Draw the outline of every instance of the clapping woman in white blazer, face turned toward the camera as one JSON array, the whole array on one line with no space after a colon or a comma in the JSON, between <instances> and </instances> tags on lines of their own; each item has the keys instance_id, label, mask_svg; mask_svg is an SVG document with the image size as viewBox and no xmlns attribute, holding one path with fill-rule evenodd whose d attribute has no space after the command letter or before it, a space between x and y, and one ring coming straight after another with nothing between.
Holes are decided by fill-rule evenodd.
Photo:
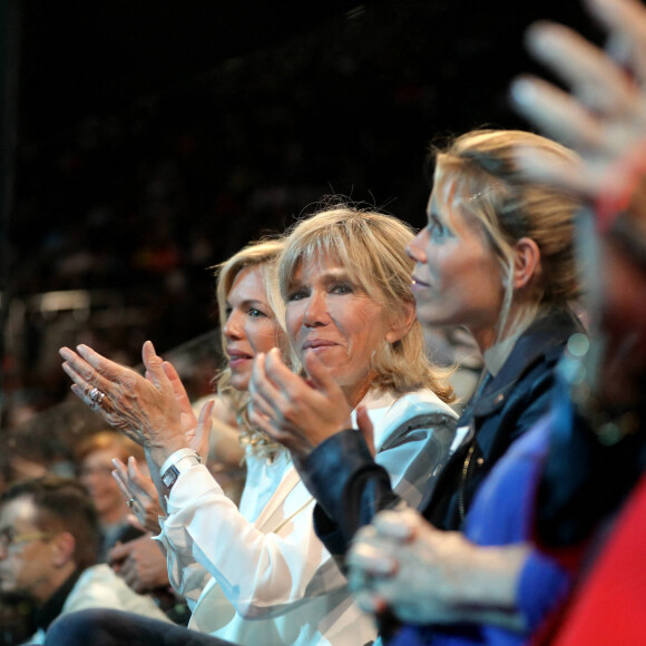
<instances>
[{"instance_id":1,"label":"clapping woman in white blazer, face turned toward the camera","mask_svg":"<svg viewBox=\"0 0 646 646\"><path fill-rule=\"evenodd\" d=\"M432 386L443 398L451 397L425 358L422 330L414 317L412 262L405 255L411 239L410 229L395 218L332 207L291 232L281 255L278 282L297 360L309 371L310 361L320 358L325 365L322 379L340 393L335 405L345 411L346 419L363 404L363 417L371 414L374 421L376 460L388 467L402 496L419 501L429 469L453 438L456 415L429 390ZM119 395L119 384L133 379L130 372L89 349L79 348L79 352L82 358L62 351L66 371L75 381L72 390L86 402L91 402L87 395L91 386L106 393L99 410L130 435L137 433L148 447L153 472L169 456L180 458L184 453L176 451L185 440L172 414L147 423L144 433L136 430L144 417L153 419L153 410L161 410L158 391L140 380L141 410L137 410ZM159 388L170 389L149 344L145 361ZM96 378L97 383L90 385L86 378ZM311 378L319 382L319 376ZM145 398L158 401L151 407ZM128 421L134 415L139 419L136 425ZM173 484L169 516L163 523L170 568L183 575L179 583L185 594L202 589L188 578L187 566L195 568L195 560L215 576L204 588L190 625L213 632L224 619L227 625L215 634L241 644L365 643L374 628L352 604L345 578L314 536L314 501L285 451L271 447L273 458L267 462L266 442L253 431L249 451L265 456L264 474L257 484L255 478L247 479L241 505L246 518L223 500L198 464L183 469ZM196 497L195 491L203 493ZM200 538L199 528L208 528L209 537L215 532L219 540ZM234 605L231 611L223 613L224 597ZM114 617L106 616L95 629L116 639L114 625Z\"/></svg>"}]
</instances>

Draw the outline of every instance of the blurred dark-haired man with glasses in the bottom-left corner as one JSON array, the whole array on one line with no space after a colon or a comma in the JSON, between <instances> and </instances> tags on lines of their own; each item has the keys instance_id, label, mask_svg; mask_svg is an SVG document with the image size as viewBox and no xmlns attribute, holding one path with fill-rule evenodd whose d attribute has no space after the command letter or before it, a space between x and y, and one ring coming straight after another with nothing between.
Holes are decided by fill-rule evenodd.
<instances>
[{"instance_id":1,"label":"blurred dark-haired man with glasses in the bottom-left corner","mask_svg":"<svg viewBox=\"0 0 646 646\"><path fill-rule=\"evenodd\" d=\"M91 500L74 480L45 476L16 482L1 497L0 589L36 605L41 644L59 615L116 608L165 620L107 565L97 565L99 526Z\"/></svg>"}]
</instances>

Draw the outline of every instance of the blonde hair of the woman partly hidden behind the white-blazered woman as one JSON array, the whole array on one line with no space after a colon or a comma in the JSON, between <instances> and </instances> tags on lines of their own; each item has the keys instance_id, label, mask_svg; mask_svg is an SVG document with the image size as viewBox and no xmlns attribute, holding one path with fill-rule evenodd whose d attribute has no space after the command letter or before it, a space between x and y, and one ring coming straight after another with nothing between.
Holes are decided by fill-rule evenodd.
<instances>
[{"instance_id":1,"label":"blonde hair of the woman partly hidden behind the white-blazered woman","mask_svg":"<svg viewBox=\"0 0 646 646\"><path fill-rule=\"evenodd\" d=\"M263 273L263 281L267 290L267 301L272 307L272 314L275 316L274 305L276 304L275 296L272 297L272 292L275 291L275 262L278 254L283 249L284 242L281 238L264 238L257 242L252 242L239 252L231 256L224 263L216 265L217 286L217 309L221 322L221 342L223 354L228 359L226 352L226 336L224 334L224 326L227 320L227 297L237 275L249 267L258 267ZM277 320L277 317L276 317ZM285 335L282 331L278 332L278 342L283 341L282 351L284 350ZM217 392L225 399L232 402L235 410L236 418L241 429L241 443L243 446L251 444L252 449L273 453L278 450L278 444L273 442L271 438L254 429L247 419L248 393L235 390L231 383L231 368L223 369L217 376Z\"/></svg>"}]
</instances>

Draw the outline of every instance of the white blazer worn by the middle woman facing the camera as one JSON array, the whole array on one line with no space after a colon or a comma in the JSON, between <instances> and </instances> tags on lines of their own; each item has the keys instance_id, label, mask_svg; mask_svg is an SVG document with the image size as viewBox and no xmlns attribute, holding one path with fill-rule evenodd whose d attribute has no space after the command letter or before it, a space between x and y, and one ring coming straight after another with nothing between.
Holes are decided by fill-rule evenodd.
<instances>
[{"instance_id":1,"label":"white blazer worn by the middle woman facing the camera","mask_svg":"<svg viewBox=\"0 0 646 646\"><path fill-rule=\"evenodd\" d=\"M370 392L362 403L373 421L376 461L415 505L433 456L441 459L451 443L457 415L430 391L399 399ZM170 583L192 607L189 628L242 646L374 639L372 619L314 534L314 505L285 452L273 463L249 457L239 511L204 466L182 473L158 539Z\"/></svg>"}]
</instances>

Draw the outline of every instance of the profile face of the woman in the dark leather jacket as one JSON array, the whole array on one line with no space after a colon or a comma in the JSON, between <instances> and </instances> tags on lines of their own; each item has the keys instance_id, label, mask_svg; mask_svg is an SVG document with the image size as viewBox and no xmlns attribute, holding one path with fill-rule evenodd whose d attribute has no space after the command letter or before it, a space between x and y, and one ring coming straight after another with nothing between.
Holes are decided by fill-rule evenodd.
<instances>
[{"instance_id":1,"label":"profile face of the woman in the dark leather jacket","mask_svg":"<svg viewBox=\"0 0 646 646\"><path fill-rule=\"evenodd\" d=\"M502 307L501 267L479 226L459 205L460 198L448 204L431 194L429 224L409 246L417 263L413 294L423 325L464 325L483 349L496 337Z\"/></svg>"}]
</instances>

